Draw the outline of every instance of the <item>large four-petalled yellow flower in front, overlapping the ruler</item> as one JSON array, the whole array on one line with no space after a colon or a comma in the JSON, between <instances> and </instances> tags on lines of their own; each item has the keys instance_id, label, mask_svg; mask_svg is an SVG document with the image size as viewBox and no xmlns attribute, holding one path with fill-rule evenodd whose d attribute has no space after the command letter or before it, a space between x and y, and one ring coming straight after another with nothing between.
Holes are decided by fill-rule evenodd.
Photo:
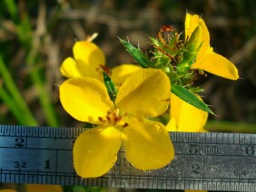
<instances>
[{"instance_id":1,"label":"large four-petalled yellow flower in front, overlapping the ruler","mask_svg":"<svg viewBox=\"0 0 256 192\"><path fill-rule=\"evenodd\" d=\"M168 131L147 120L167 110L171 84L157 69L133 72L117 92L115 104L103 82L84 77L65 81L60 100L76 120L98 126L86 130L74 143L74 169L82 178L96 178L113 167L122 142L126 158L142 170L162 168L174 156Z\"/></svg>"}]
</instances>

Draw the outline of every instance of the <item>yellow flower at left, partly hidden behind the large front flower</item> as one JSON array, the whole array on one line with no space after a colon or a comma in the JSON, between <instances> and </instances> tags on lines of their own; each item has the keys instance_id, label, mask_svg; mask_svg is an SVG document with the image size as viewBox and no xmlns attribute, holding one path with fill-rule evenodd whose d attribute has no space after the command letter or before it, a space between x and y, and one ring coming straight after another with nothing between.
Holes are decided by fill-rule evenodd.
<instances>
[{"instance_id":1,"label":"yellow flower at left, partly hidden behind the large front flower","mask_svg":"<svg viewBox=\"0 0 256 192\"><path fill-rule=\"evenodd\" d=\"M86 41L78 41L73 47L74 58L68 57L61 65L61 73L67 78L94 77L103 81L102 68L105 67L105 56L103 51L95 44ZM114 67L111 78L115 85L121 83L133 72L141 67L129 63L123 63Z\"/></svg>"}]
</instances>

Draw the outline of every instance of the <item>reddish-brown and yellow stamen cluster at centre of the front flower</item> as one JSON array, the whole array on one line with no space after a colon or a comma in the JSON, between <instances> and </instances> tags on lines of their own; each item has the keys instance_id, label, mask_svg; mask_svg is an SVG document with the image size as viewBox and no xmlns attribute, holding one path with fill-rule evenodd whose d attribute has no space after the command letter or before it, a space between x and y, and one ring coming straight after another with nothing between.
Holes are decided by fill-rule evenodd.
<instances>
[{"instance_id":1,"label":"reddish-brown and yellow stamen cluster at centre of the front flower","mask_svg":"<svg viewBox=\"0 0 256 192\"><path fill-rule=\"evenodd\" d=\"M126 115L127 114L121 116L119 109L113 111L108 110L106 116L98 117L98 120L100 120L103 125L123 125L126 127L128 126L128 123L123 120Z\"/></svg>"}]
</instances>

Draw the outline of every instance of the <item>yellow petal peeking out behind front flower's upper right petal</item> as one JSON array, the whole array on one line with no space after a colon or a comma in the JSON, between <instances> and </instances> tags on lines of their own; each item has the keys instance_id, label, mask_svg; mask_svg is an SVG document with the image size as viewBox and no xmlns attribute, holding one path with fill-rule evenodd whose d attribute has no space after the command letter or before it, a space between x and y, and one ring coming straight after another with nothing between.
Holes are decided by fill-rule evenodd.
<instances>
[{"instance_id":1,"label":"yellow petal peeking out behind front flower's upper right petal","mask_svg":"<svg viewBox=\"0 0 256 192\"><path fill-rule=\"evenodd\" d=\"M134 64L121 64L113 68L111 71L111 79L115 85L121 85L127 77L133 72L137 72L141 67Z\"/></svg>"}]
</instances>

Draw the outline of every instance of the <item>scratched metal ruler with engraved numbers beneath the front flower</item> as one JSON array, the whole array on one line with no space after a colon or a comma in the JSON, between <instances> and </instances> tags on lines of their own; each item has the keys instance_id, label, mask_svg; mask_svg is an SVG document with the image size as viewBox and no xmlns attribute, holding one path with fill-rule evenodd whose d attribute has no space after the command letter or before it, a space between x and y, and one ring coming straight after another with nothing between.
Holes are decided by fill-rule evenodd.
<instances>
[{"instance_id":1,"label":"scratched metal ruler with engraved numbers beneath the front flower","mask_svg":"<svg viewBox=\"0 0 256 192\"><path fill-rule=\"evenodd\" d=\"M78 177L73 144L85 129L0 125L0 182L88 187L256 191L256 134L172 132L175 158L133 168L124 151L103 177Z\"/></svg>"}]
</instances>

